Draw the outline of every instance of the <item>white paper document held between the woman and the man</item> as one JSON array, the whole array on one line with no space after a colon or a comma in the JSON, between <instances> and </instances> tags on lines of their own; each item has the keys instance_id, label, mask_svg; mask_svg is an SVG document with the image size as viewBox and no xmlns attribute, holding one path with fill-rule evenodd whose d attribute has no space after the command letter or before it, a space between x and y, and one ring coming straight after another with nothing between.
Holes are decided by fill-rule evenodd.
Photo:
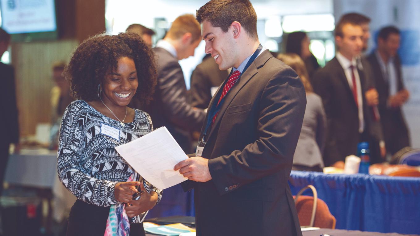
<instances>
[{"instance_id":1,"label":"white paper document held between the woman and the man","mask_svg":"<svg viewBox=\"0 0 420 236\"><path fill-rule=\"evenodd\" d=\"M115 149L157 189L166 189L188 179L173 170L178 162L188 157L165 126Z\"/></svg>"}]
</instances>

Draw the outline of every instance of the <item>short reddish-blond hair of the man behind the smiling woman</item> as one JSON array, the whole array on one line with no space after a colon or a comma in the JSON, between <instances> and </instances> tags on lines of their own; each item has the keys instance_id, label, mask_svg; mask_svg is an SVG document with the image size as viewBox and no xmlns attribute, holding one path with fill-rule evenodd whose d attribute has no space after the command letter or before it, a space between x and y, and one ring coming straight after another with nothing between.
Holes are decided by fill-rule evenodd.
<instances>
[{"instance_id":1,"label":"short reddish-blond hair of the man behind the smiling woman","mask_svg":"<svg viewBox=\"0 0 420 236\"><path fill-rule=\"evenodd\" d=\"M178 16L172 22L171 28L168 30L166 36L171 39L179 39L186 33L192 34L192 42L201 39L200 24L192 14Z\"/></svg>"}]
</instances>

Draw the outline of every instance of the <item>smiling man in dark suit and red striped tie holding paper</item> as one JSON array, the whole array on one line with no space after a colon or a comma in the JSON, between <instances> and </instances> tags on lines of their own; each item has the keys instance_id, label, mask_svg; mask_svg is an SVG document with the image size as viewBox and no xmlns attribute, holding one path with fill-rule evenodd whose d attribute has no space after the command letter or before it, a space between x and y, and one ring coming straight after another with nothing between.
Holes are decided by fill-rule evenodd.
<instances>
[{"instance_id":1,"label":"smiling man in dark suit and red striped tie holding paper","mask_svg":"<svg viewBox=\"0 0 420 236\"><path fill-rule=\"evenodd\" d=\"M289 66L261 47L247 0L197 10L205 52L233 67L210 101L196 156L174 169L192 181L198 236L302 235L287 180L306 96ZM189 185L189 186L188 186Z\"/></svg>"}]
</instances>

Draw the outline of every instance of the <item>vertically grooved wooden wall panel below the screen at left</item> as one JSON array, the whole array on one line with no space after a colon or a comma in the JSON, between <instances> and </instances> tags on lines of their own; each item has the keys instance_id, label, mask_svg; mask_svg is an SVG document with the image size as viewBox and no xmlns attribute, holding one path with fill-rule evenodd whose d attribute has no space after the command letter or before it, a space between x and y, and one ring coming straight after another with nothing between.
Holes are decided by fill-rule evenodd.
<instances>
[{"instance_id":1,"label":"vertically grooved wooden wall panel below the screen at left","mask_svg":"<svg viewBox=\"0 0 420 236\"><path fill-rule=\"evenodd\" d=\"M12 45L21 136L35 134L37 123L50 122L52 65L67 62L77 45L77 39Z\"/></svg>"}]
</instances>

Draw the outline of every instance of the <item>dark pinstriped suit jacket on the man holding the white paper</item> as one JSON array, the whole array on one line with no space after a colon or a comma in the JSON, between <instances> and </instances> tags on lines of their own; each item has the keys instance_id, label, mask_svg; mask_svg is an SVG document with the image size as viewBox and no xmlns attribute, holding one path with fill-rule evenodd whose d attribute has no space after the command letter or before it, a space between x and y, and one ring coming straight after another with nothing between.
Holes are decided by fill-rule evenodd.
<instances>
[{"instance_id":1,"label":"dark pinstriped suit jacket on the man holding the white paper","mask_svg":"<svg viewBox=\"0 0 420 236\"><path fill-rule=\"evenodd\" d=\"M213 179L191 182L197 235L302 235L287 182L306 105L302 82L265 50L225 99L202 154Z\"/></svg>"}]
</instances>

